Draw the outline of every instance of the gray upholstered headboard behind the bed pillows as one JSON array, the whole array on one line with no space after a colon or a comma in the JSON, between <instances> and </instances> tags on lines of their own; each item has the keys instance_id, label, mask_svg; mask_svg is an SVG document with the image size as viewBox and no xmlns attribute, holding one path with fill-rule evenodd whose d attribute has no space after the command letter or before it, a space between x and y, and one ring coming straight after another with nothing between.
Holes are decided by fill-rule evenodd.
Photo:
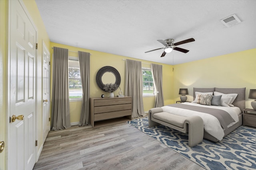
<instances>
[{"instance_id":1,"label":"gray upholstered headboard behind the bed pillows","mask_svg":"<svg viewBox=\"0 0 256 170\"><path fill-rule=\"evenodd\" d=\"M239 107L241 112L245 109L245 89L246 88L194 88L193 96L196 98L195 92L220 92L224 94L236 93L238 94L234 102L234 106Z\"/></svg>"}]
</instances>

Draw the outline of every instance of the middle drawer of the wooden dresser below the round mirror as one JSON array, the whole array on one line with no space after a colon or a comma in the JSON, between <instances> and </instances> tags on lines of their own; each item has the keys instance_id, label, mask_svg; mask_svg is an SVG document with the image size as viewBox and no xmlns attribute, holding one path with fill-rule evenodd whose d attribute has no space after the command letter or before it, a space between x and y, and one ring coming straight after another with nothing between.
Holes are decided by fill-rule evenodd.
<instances>
[{"instance_id":1,"label":"middle drawer of the wooden dresser below the round mirror","mask_svg":"<svg viewBox=\"0 0 256 170\"><path fill-rule=\"evenodd\" d=\"M98 106L98 107L94 107L94 114L111 112L111 111L119 111L119 110L128 110L131 108L132 108L132 104Z\"/></svg>"}]
</instances>

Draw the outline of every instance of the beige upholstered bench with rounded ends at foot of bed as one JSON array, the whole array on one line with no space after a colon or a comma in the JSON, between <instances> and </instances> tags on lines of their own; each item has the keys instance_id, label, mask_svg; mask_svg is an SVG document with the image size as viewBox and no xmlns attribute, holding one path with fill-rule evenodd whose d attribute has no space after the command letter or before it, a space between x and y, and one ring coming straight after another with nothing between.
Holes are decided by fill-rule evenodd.
<instances>
[{"instance_id":1,"label":"beige upholstered bench with rounded ends at foot of bed","mask_svg":"<svg viewBox=\"0 0 256 170\"><path fill-rule=\"evenodd\" d=\"M183 117L164 112L162 108L156 107L148 111L148 125L165 125L183 133L188 133L188 146L194 147L203 141L204 123L199 116Z\"/></svg>"}]
</instances>

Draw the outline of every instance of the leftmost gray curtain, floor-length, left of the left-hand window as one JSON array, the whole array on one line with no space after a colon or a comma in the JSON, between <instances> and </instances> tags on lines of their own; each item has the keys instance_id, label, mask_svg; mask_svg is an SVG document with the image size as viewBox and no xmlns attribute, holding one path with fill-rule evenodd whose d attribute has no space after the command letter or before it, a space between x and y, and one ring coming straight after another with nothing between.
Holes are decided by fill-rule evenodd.
<instances>
[{"instance_id":1,"label":"leftmost gray curtain, floor-length, left of the left-hand window","mask_svg":"<svg viewBox=\"0 0 256 170\"><path fill-rule=\"evenodd\" d=\"M53 47L51 130L70 127L68 49Z\"/></svg>"}]
</instances>

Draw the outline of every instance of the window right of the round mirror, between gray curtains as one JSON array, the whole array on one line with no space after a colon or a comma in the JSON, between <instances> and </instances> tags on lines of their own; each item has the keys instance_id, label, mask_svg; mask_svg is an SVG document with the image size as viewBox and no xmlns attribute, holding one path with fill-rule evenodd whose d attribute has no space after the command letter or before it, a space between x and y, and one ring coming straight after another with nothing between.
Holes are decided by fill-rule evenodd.
<instances>
[{"instance_id":1,"label":"window right of the round mirror, between gray curtains","mask_svg":"<svg viewBox=\"0 0 256 170\"><path fill-rule=\"evenodd\" d=\"M154 95L154 82L152 71L142 68L143 96Z\"/></svg>"}]
</instances>

